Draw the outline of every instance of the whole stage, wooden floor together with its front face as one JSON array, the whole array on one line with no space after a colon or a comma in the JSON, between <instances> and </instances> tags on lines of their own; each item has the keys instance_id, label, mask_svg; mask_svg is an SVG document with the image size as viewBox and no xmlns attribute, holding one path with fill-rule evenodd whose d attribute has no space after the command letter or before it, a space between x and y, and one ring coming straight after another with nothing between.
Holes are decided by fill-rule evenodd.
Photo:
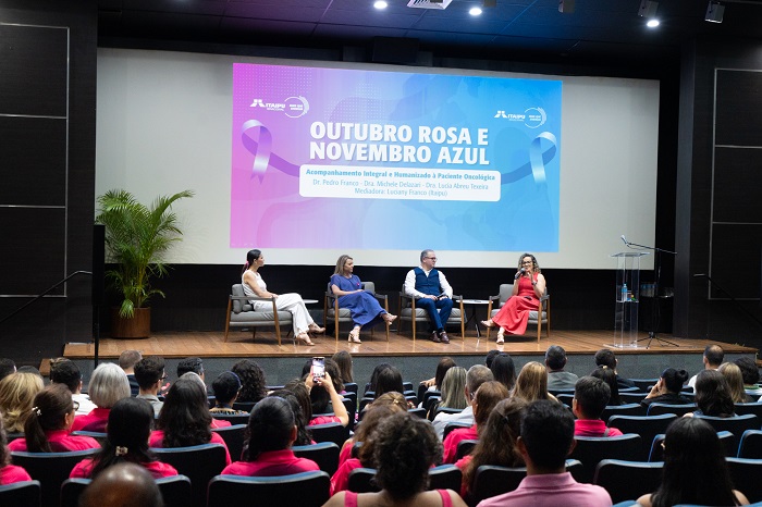
<instances>
[{"instance_id":1,"label":"whole stage, wooden floor together with its front face","mask_svg":"<svg viewBox=\"0 0 762 507\"><path fill-rule=\"evenodd\" d=\"M312 356L330 357L339 350L348 350L353 356L356 381L366 382L370 372L380 362L390 362L403 372L406 381L418 382L433 376L437 362L443 356L451 356L458 366L465 368L483 362L484 355L496 348L511 354L516 362L516 369L529 361L543 361L544 353L550 345L564 347L568 356L567 370L585 375L594 369L593 355L601 348L612 348L619 360L618 373L632 379L653 379L672 367L685 369L690 374L702 368L701 357L708 344L718 343L725 350L725 359L734 360L740 356L755 359L757 349L740 345L714 342L709 339L683 339L672 335L660 334L659 338L672 342L677 346L667 345L653 339L648 348L648 334L641 333L638 348L613 347L613 331L557 331L553 330L551 338L544 333L540 343L537 335L506 336L504 345L494 343L494 333L487 341L482 334L477 338L474 330L466 333L462 339L457 334L451 334L451 343L437 344L426 339L428 335L419 334L414 341L409 333L402 335L390 333L386 342L385 333L377 332L371 338L370 333L362 333L361 344L349 344L347 332L342 332L336 342L333 335L315 337L315 346L295 345L291 336L282 334L282 345L273 332L258 331L255 341L248 331L232 331L229 339L223 341L223 332L171 332L155 333L146 339L113 339L101 338L99 359L114 361L122 350L140 350L144 356L162 356L167 359L167 372L173 376L179 359L198 356L204 358L207 382L211 383L220 372L229 370L241 358L251 358L265 370L268 383L271 385L287 382L298 375L304 362ZM95 345L84 343L66 344L64 357L79 364L83 373L89 376L94 367Z\"/></svg>"}]
</instances>

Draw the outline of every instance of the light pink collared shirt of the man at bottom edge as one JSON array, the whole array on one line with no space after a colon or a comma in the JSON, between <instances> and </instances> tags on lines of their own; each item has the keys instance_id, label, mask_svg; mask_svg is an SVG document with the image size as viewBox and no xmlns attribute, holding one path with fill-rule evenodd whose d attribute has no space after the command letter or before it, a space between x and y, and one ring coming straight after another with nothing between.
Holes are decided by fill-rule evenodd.
<instances>
[{"instance_id":1,"label":"light pink collared shirt of the man at bottom edge","mask_svg":"<svg viewBox=\"0 0 762 507\"><path fill-rule=\"evenodd\" d=\"M601 486L580 484L569 472L527 475L512 492L479 502L478 507L557 507L560 505L611 507L611 496Z\"/></svg>"}]
</instances>

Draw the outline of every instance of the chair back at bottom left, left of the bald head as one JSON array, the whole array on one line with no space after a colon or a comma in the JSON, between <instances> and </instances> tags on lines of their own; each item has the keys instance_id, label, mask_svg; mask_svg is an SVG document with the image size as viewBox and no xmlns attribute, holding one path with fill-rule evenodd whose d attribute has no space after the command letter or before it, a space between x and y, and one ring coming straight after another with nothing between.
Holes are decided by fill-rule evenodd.
<instances>
[{"instance_id":1,"label":"chair back at bottom left, left of the bald head","mask_svg":"<svg viewBox=\"0 0 762 507\"><path fill-rule=\"evenodd\" d=\"M72 450L69 453L26 453L13 452L13 465L23 467L32 479L42 487L42 505L58 505L61 484L76 463L100 452L97 449Z\"/></svg>"}]
</instances>

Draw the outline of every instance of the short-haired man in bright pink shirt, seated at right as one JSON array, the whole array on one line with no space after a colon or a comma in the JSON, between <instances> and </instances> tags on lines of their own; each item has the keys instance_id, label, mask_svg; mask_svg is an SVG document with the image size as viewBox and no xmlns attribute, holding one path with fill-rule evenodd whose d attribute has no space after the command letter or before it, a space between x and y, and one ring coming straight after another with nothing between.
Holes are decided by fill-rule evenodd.
<instances>
[{"instance_id":1,"label":"short-haired man in bright pink shirt, seated at right","mask_svg":"<svg viewBox=\"0 0 762 507\"><path fill-rule=\"evenodd\" d=\"M601 420L601 413L611 398L609 384L594 376L582 376L574 387L572 411L577 418L574 421L575 436L622 436L616 428L606 428Z\"/></svg>"}]
</instances>

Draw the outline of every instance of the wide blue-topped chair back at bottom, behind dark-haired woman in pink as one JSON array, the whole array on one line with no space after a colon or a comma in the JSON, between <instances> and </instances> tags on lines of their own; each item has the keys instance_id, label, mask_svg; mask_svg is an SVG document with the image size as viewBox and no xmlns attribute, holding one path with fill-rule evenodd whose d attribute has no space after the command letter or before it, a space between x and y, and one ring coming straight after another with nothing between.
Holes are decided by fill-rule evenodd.
<instances>
[{"instance_id":1,"label":"wide blue-topped chair back at bottom, behind dark-haired woman in pink","mask_svg":"<svg viewBox=\"0 0 762 507\"><path fill-rule=\"evenodd\" d=\"M217 475L209 481L207 506L320 507L330 496L331 478L323 471L282 477Z\"/></svg>"}]
</instances>

